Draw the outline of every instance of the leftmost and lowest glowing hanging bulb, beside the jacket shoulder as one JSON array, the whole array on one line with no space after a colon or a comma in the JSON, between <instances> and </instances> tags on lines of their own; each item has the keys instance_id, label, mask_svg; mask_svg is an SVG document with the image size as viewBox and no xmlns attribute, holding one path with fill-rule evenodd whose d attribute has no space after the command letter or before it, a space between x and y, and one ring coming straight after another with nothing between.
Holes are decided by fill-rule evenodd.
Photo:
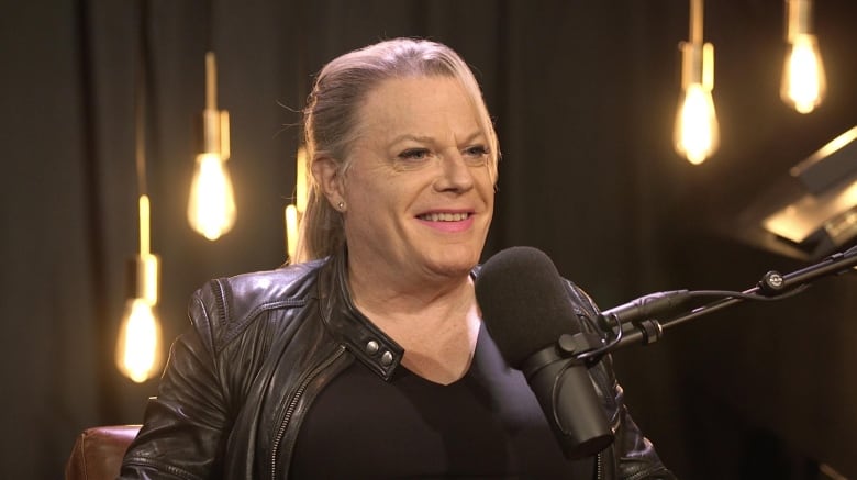
<instances>
[{"instance_id":1,"label":"leftmost and lowest glowing hanging bulb, beside the jacket shoulder","mask_svg":"<svg viewBox=\"0 0 857 480\"><path fill-rule=\"evenodd\" d=\"M149 203L140 197L140 255L131 263L133 293L116 343L119 370L142 383L154 377L163 365L160 321L155 313L158 302L158 258L149 253Z\"/></svg>"}]
</instances>

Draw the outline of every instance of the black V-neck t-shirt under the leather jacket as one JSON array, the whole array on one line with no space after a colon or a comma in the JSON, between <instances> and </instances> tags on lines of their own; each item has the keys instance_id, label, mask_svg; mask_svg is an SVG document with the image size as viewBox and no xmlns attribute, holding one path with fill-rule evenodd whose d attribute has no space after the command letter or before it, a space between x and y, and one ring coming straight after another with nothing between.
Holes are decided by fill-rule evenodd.
<instances>
[{"instance_id":1,"label":"black V-neck t-shirt under the leather jacket","mask_svg":"<svg viewBox=\"0 0 857 480\"><path fill-rule=\"evenodd\" d=\"M359 361L310 408L292 478L592 478L566 460L523 375L485 326L474 361L441 386L399 367L386 382Z\"/></svg>"}]
</instances>

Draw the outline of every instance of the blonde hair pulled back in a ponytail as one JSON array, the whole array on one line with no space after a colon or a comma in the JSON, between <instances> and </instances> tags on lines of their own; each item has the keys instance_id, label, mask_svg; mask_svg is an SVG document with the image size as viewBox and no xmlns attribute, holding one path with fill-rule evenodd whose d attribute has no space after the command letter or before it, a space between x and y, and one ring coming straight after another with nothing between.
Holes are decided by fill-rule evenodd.
<instances>
[{"instance_id":1,"label":"blonde hair pulled back in a ponytail","mask_svg":"<svg viewBox=\"0 0 857 480\"><path fill-rule=\"evenodd\" d=\"M292 263L330 256L345 243L342 213L327 202L312 177L312 161L330 158L344 175L347 153L357 134L358 110L368 92L383 80L420 76L450 77L460 82L488 137L489 168L497 179L497 133L479 83L457 53L446 45L414 38L388 40L349 52L322 68L303 111L309 188Z\"/></svg>"}]
</instances>

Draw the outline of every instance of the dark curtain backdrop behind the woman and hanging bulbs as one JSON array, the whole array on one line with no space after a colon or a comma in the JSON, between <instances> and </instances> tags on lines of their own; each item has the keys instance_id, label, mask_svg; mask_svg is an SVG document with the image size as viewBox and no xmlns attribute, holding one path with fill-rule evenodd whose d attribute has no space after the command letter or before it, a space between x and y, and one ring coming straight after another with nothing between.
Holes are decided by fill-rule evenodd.
<instances>
[{"instance_id":1,"label":"dark curtain backdrop behind the woman and hanging bulbs","mask_svg":"<svg viewBox=\"0 0 857 480\"><path fill-rule=\"evenodd\" d=\"M804 266L712 226L725 221L728 233L773 177L857 123L853 0L816 2L830 91L810 115L778 98L783 2L708 2L722 146L697 167L670 148L683 0L146 5L2 1L4 478L59 478L79 431L141 422L156 391L156 381L122 378L112 359L125 261L137 249L141 37L168 339L188 325L187 300L209 278L283 261L294 124L312 75L380 38L435 38L477 70L503 152L486 256L539 247L604 308L658 290L743 290L769 269ZM234 231L214 243L185 220L208 48L232 120L238 206ZM822 466L857 477L856 287L854 276L826 279L617 351L628 406L664 460L692 479L816 479Z\"/></svg>"}]
</instances>

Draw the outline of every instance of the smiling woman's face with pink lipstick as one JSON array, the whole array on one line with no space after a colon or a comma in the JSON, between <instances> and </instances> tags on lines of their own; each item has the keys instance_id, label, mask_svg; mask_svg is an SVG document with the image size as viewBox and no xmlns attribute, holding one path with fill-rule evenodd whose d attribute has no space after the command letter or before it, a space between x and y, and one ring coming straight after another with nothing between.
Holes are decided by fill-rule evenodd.
<instances>
[{"instance_id":1,"label":"smiling woman's face with pink lipstick","mask_svg":"<svg viewBox=\"0 0 857 480\"><path fill-rule=\"evenodd\" d=\"M358 129L337 182L352 268L394 281L467 276L494 189L488 137L464 89L446 77L386 80L360 107Z\"/></svg>"}]
</instances>

